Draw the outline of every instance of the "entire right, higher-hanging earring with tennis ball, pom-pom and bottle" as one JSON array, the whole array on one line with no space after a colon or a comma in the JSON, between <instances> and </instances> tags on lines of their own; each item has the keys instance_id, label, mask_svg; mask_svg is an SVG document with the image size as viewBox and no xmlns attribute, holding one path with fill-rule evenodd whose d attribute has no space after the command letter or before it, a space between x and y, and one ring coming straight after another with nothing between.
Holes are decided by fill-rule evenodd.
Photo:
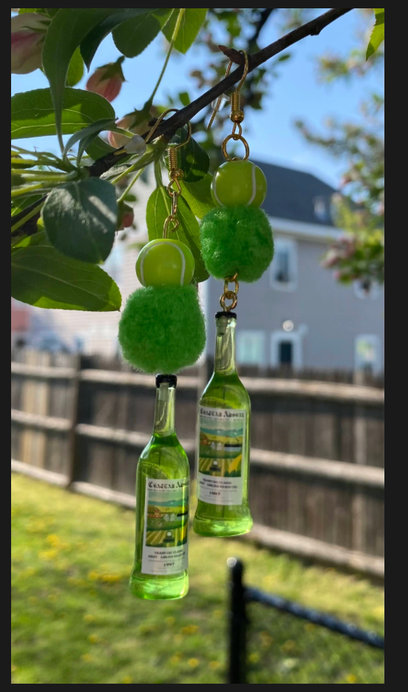
<instances>
[{"instance_id":1,"label":"entire right, higher-hanging earring with tennis ball, pom-pom and bottle","mask_svg":"<svg viewBox=\"0 0 408 692\"><path fill-rule=\"evenodd\" d=\"M201 222L201 252L207 272L215 279L224 279L223 312L216 314L214 374L198 405L198 507L194 531L203 536L239 536L253 526L248 504L250 399L237 375L237 315L232 311L238 304L238 279L252 283L269 267L273 233L266 213L259 208L266 197L266 179L262 170L248 161L249 146L242 136L244 111L239 90L248 74L248 56L240 52L244 69L231 99L234 126L222 147L228 160L212 180L216 208ZM217 108L218 102L209 126ZM244 160L229 156L230 140L244 145ZM228 288L230 283L235 283L234 290Z\"/></svg>"}]
</instances>

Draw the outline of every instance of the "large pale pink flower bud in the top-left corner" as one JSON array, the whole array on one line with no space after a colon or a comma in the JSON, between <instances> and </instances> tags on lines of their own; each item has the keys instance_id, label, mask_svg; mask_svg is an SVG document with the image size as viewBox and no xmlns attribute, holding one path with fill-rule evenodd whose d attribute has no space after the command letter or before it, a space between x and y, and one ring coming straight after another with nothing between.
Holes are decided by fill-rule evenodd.
<instances>
[{"instance_id":1,"label":"large pale pink flower bud in the top-left corner","mask_svg":"<svg viewBox=\"0 0 408 692\"><path fill-rule=\"evenodd\" d=\"M41 67L42 44L48 23L44 15L36 13L11 17L12 74L28 74Z\"/></svg>"}]
</instances>

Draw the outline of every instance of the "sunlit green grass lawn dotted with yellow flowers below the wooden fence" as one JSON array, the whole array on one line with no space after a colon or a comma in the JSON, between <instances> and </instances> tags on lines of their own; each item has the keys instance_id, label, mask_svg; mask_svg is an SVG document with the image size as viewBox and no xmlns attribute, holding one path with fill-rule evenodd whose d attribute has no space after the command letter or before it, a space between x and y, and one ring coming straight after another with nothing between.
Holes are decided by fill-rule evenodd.
<instances>
[{"instance_id":1,"label":"sunlit green grass lawn dotted with yellow flowers below the wooden fence","mask_svg":"<svg viewBox=\"0 0 408 692\"><path fill-rule=\"evenodd\" d=\"M12 682L223 684L228 557L248 584L382 632L382 589L250 543L192 535L190 591L128 592L133 512L12 476ZM384 684L382 655L255 604L249 683Z\"/></svg>"}]
</instances>

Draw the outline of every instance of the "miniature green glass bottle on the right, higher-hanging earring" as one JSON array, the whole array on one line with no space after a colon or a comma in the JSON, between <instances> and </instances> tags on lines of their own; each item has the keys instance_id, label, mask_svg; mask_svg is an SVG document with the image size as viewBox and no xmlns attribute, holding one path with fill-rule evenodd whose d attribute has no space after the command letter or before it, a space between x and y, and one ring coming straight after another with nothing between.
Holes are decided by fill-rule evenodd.
<instances>
[{"instance_id":1,"label":"miniature green glass bottle on the right, higher-hanging earring","mask_svg":"<svg viewBox=\"0 0 408 692\"><path fill-rule=\"evenodd\" d=\"M212 379L198 404L198 507L201 536L239 536L253 527L248 504L250 399L235 364L235 313L216 313Z\"/></svg>"}]
</instances>

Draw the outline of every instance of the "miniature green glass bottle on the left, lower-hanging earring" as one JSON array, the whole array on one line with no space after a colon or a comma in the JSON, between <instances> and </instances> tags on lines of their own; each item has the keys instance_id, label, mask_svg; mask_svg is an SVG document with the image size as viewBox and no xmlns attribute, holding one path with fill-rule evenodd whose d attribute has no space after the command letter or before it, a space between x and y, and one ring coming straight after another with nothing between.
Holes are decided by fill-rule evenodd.
<instances>
[{"instance_id":1,"label":"miniature green glass bottle on the left, lower-hanging earring","mask_svg":"<svg viewBox=\"0 0 408 692\"><path fill-rule=\"evenodd\" d=\"M156 377L153 436L136 479L136 554L130 577L135 596L182 598L189 588L189 461L174 429L177 377Z\"/></svg>"}]
</instances>

